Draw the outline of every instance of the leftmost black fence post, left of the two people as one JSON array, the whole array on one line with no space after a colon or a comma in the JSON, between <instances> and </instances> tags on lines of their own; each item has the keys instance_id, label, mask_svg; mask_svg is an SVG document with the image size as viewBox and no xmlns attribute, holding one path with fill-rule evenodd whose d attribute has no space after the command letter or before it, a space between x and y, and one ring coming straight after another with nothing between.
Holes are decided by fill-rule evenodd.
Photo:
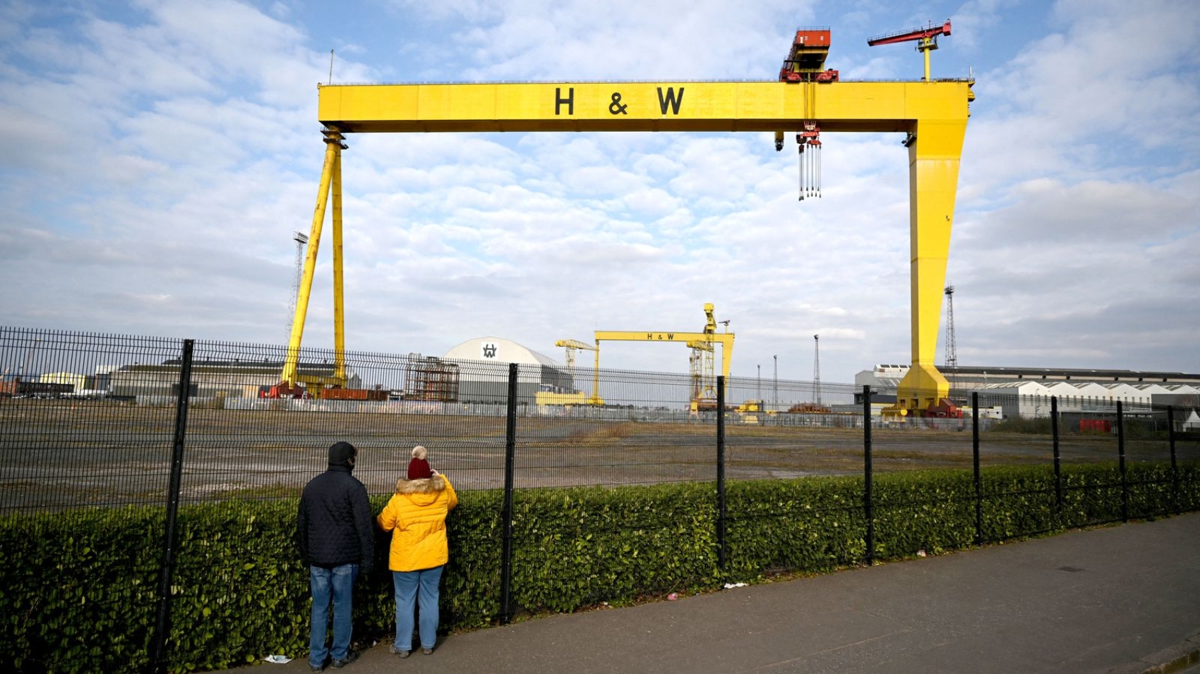
<instances>
[{"instance_id":1,"label":"leftmost black fence post, left of the two people","mask_svg":"<svg viewBox=\"0 0 1200 674\"><path fill-rule=\"evenodd\" d=\"M167 486L167 523L158 566L158 616L155 624L155 672L166 672L167 637L170 632L170 580L175 571L175 523L179 517L179 491L184 476L184 439L187 435L187 401L192 392L192 350L194 339L184 339L179 366L179 395L175 397L175 437L170 453L170 481Z\"/></svg>"}]
</instances>

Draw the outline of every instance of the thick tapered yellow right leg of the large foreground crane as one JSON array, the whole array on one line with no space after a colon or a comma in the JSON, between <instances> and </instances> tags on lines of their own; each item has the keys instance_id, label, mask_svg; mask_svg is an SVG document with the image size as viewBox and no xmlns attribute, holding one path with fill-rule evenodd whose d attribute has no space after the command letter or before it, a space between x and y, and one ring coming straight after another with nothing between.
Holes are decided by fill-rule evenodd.
<instances>
[{"instance_id":1,"label":"thick tapered yellow right leg of the large foreground crane","mask_svg":"<svg viewBox=\"0 0 1200 674\"><path fill-rule=\"evenodd\" d=\"M934 367L934 356L966 127L965 119L912 125L916 137L908 145L912 367L900 380L895 408L887 410L890 413L920 414L949 395L949 384Z\"/></svg>"}]
</instances>

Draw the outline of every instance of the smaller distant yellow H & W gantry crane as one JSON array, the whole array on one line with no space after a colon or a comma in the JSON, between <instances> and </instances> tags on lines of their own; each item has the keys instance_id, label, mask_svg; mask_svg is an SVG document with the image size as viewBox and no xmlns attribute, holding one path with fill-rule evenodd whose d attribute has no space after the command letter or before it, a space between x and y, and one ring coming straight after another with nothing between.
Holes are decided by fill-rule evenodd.
<instances>
[{"instance_id":1,"label":"smaller distant yellow H & W gantry crane","mask_svg":"<svg viewBox=\"0 0 1200 674\"><path fill-rule=\"evenodd\" d=\"M592 386L592 397L588 403L602 405L600 397L600 342L672 342L683 343L692 350L690 359L691 371L691 410L716 409L716 377L713 367L714 347L721 345L721 375L728 378L730 360L733 357L733 333L728 331L728 321L725 324L725 332L716 332L716 319L713 317L712 302L704 305L704 329L701 332L630 332L630 331L601 331L595 333L596 339L596 369Z\"/></svg>"}]
</instances>

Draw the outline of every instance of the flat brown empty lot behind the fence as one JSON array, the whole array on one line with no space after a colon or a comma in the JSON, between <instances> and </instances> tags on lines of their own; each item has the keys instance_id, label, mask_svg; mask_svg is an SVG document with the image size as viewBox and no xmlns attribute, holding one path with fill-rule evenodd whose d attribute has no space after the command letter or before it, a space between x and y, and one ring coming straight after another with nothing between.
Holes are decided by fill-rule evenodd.
<instances>
[{"instance_id":1,"label":"flat brown empty lot behind the fence","mask_svg":"<svg viewBox=\"0 0 1200 674\"><path fill-rule=\"evenodd\" d=\"M371 409L371 408L362 408ZM184 438L182 498L298 494L337 440L361 450L355 475L390 493L413 445L458 489L504 483L505 419L487 415L224 410L193 407ZM780 479L863 471L863 429L726 422L726 477ZM0 512L84 504L161 504L175 443L175 410L89 401L0 401ZM970 468L972 433L874 428L876 471ZM713 423L520 416L515 483L523 487L709 481ZM1110 434L1063 434L1064 463L1117 459ZM1178 441L1180 461L1200 443ZM1049 435L980 433L980 464L1052 464ZM1163 439L1130 439L1129 462L1170 461Z\"/></svg>"}]
</instances>

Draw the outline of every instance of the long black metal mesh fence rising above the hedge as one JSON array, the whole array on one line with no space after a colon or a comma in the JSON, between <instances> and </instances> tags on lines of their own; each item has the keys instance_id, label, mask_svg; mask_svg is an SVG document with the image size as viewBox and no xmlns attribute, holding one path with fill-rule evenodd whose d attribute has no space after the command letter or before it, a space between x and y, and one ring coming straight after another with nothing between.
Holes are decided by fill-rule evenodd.
<instances>
[{"instance_id":1,"label":"long black metal mesh fence rising above the hedge","mask_svg":"<svg viewBox=\"0 0 1200 674\"><path fill-rule=\"evenodd\" d=\"M360 449L355 475L373 494L392 492L420 444L456 489L504 489L508 512L521 489L715 481L722 566L726 531L746 517L727 507L730 480L863 476L860 501L814 505L862 513L870 561L881 513L931 503L877 494L880 475L973 470L976 493L959 505L974 510L976 541L984 542L1037 532L984 531L983 504L1016 495L984 488L991 468L1052 465L1054 483L1031 494L1060 508L1072 491L1120 489L1120 518L1128 519L1163 514L1130 501L1145 487L1130 467L1169 463L1156 487L1178 493L1180 465L1200 459L1195 409L1145 401L972 392L959 397L962 417L895 417L881 414L875 392L845 384L719 378L719 395L697 399L708 383L692 375L415 354L347 353L338 363L320 349L300 354L300 374L343 377L347 387L296 398L277 386L287 355L278 345L0 329L0 517L166 507L166 633L170 513L185 504L294 498L338 440ZM1063 464L1108 462L1118 462L1118 483L1063 482Z\"/></svg>"}]
</instances>

